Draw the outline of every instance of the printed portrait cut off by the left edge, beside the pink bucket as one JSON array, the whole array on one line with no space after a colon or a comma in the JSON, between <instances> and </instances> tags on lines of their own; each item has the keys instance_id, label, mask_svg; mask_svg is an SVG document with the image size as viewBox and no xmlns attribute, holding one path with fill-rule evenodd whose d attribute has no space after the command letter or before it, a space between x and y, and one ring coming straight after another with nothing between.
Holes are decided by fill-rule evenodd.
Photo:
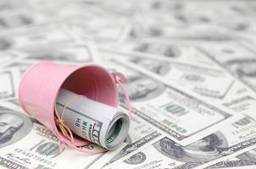
<instances>
[{"instance_id":1,"label":"printed portrait cut off by the left edge, beside the pink bucket","mask_svg":"<svg viewBox=\"0 0 256 169\"><path fill-rule=\"evenodd\" d=\"M31 118L0 106L0 148L24 138L31 128Z\"/></svg>"}]
</instances>

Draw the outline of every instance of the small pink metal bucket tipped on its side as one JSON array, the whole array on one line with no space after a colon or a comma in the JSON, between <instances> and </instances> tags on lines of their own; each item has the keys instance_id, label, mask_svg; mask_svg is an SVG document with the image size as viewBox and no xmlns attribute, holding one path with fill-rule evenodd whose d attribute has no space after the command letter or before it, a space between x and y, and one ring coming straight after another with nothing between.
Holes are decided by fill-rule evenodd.
<instances>
[{"instance_id":1,"label":"small pink metal bucket tipped on its side","mask_svg":"<svg viewBox=\"0 0 256 169\"><path fill-rule=\"evenodd\" d=\"M109 71L97 64L70 65L55 64L49 62L36 63L28 68L19 84L19 103L22 108L35 117L39 122L51 129L58 137L60 143L66 143L70 147L90 144L85 139L76 138L73 143L66 139L58 131L54 121L54 106L58 90L64 88L78 95L99 101L109 106L118 106L118 88L125 81L125 76L120 73ZM130 101L127 92L124 90ZM131 107L130 107L131 108ZM131 109L130 109L131 118ZM86 150L86 153L96 154L105 150Z\"/></svg>"}]
</instances>

